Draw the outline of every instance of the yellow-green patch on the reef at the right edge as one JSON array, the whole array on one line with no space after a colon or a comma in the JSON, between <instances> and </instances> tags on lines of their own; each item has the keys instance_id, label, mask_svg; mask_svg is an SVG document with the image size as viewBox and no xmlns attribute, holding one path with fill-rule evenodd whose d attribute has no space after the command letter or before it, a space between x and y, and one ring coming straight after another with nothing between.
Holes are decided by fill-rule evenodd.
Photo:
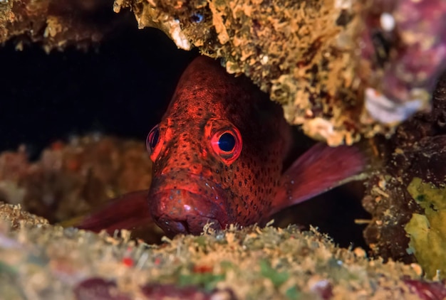
<instances>
[{"instance_id":1,"label":"yellow-green patch on the reef at the right edge","mask_svg":"<svg viewBox=\"0 0 446 300\"><path fill-rule=\"evenodd\" d=\"M413 252L428 277L437 270L446 272L446 188L437 188L413 178L408 192L425 210L414 213L405 231L410 237L408 252Z\"/></svg>"}]
</instances>

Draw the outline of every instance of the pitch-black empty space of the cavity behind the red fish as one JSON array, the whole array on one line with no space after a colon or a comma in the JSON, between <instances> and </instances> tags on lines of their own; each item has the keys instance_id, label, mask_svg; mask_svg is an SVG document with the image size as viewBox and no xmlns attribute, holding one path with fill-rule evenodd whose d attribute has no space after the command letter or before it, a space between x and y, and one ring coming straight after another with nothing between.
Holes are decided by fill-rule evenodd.
<instances>
[{"instance_id":1,"label":"pitch-black empty space of the cavity behind the red fish","mask_svg":"<svg viewBox=\"0 0 446 300\"><path fill-rule=\"evenodd\" d=\"M156 29L138 30L134 20L87 51L48 55L38 44L16 51L10 41L0 48L0 151L25 144L38 159L52 141L91 132L145 140L196 55ZM282 217L316 225L342 246L365 247L364 226L353 223L368 218L358 191L338 188Z\"/></svg>"}]
</instances>

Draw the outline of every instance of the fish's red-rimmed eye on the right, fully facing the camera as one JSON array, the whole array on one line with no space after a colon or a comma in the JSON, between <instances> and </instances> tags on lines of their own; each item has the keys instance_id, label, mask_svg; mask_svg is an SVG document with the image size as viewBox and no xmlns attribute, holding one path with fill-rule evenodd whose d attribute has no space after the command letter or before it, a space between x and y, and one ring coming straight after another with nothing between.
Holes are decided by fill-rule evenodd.
<instances>
[{"instance_id":1,"label":"fish's red-rimmed eye on the right, fully facing the camera","mask_svg":"<svg viewBox=\"0 0 446 300\"><path fill-rule=\"evenodd\" d=\"M242 153L242 135L235 127L219 130L212 135L211 145L225 164L232 164Z\"/></svg>"}]
</instances>

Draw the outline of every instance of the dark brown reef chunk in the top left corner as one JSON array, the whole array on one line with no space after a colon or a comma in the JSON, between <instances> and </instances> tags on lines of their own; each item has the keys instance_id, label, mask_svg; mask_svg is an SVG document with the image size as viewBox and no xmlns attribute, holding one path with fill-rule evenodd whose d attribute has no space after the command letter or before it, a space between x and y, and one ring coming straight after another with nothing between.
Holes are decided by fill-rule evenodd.
<instances>
[{"instance_id":1,"label":"dark brown reef chunk in the top left corner","mask_svg":"<svg viewBox=\"0 0 446 300\"><path fill-rule=\"evenodd\" d=\"M86 48L122 23L111 11L111 1L6 0L0 1L0 43L11 38L16 48L41 43L50 50L68 45Z\"/></svg>"}]
</instances>

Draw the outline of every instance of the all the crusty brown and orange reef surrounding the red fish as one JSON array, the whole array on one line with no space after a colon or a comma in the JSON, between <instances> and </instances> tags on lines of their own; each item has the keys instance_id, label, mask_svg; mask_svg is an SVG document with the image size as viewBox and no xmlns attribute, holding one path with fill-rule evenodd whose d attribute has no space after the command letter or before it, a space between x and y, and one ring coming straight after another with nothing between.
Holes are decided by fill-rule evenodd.
<instances>
[{"instance_id":1,"label":"all the crusty brown and orange reef surrounding the red fish","mask_svg":"<svg viewBox=\"0 0 446 300\"><path fill-rule=\"evenodd\" d=\"M118 18L128 9L140 28L247 75L308 136L370 138L382 168L365 181L364 236L377 259L294 227L147 245L129 232L49 225L150 186L142 142L86 136L52 144L36 162L23 147L0 154L2 296L445 298L445 1L0 0L0 43L88 48L128 22ZM150 243L161 236L152 224L132 232Z\"/></svg>"}]
</instances>

